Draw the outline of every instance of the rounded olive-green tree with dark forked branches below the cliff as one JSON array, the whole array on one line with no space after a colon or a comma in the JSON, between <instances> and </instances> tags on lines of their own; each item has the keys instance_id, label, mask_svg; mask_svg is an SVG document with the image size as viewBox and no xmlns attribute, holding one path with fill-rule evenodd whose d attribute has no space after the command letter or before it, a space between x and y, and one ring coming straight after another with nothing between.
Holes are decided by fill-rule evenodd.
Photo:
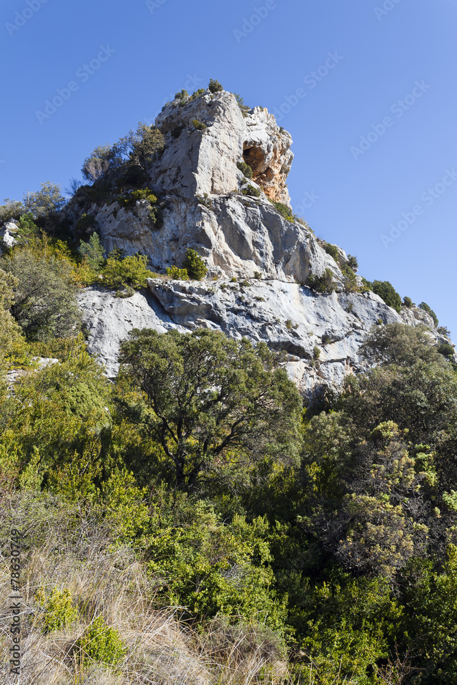
<instances>
[{"instance_id":1,"label":"rounded olive-green tree with dark forked branches below the cliff","mask_svg":"<svg viewBox=\"0 0 457 685\"><path fill-rule=\"evenodd\" d=\"M234 451L255 459L262 446L276 445L287 453L297 438L301 400L266 345L254 349L205 329L134 329L120 359L153 409L148 429L174 466L177 486L195 486Z\"/></svg>"}]
</instances>

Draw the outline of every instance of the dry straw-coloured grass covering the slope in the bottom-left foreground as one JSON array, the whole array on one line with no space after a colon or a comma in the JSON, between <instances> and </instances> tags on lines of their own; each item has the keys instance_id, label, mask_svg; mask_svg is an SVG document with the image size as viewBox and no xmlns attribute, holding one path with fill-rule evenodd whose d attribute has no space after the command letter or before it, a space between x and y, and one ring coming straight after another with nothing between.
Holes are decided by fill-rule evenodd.
<instances>
[{"instance_id":1,"label":"dry straw-coloured grass covering the slope in the bottom-left foreground","mask_svg":"<svg viewBox=\"0 0 457 685\"><path fill-rule=\"evenodd\" d=\"M0 564L0 682L4 685L280 685L294 682L274 636L254 627L212 621L196 630L180 620L180 608L162 610L157 583L131 549L112 549L100 525L53 503L16 501L1 507L3 540L14 519L27 520L32 544L24 553L21 678L10 673L8 547ZM27 510L27 506L29 509ZM73 523L71 523L73 516ZM59 542L60 540L60 542ZM5 544L5 543L3 543ZM79 619L65 630L45 634L43 609L35 598L43 588L68 588ZM76 640L97 616L114 627L127 649L114 667L81 662Z\"/></svg>"}]
</instances>

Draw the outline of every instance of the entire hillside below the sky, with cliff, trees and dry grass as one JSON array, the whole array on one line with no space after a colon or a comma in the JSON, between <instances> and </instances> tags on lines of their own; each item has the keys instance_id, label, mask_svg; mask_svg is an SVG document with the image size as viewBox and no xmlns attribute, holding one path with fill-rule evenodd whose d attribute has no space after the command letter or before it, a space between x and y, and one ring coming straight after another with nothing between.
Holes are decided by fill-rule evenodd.
<instances>
[{"instance_id":1,"label":"entire hillside below the sky, with cliff, trees and dry grass","mask_svg":"<svg viewBox=\"0 0 457 685\"><path fill-rule=\"evenodd\" d=\"M455 682L454 345L291 144L211 81L0 207L2 682Z\"/></svg>"}]
</instances>

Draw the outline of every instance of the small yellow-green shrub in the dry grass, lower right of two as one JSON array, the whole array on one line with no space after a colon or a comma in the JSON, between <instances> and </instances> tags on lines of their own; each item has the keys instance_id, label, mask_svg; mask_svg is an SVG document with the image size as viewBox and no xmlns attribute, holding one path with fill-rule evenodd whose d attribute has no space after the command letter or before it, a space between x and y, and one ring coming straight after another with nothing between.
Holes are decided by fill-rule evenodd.
<instances>
[{"instance_id":1,"label":"small yellow-green shrub in the dry grass, lower right of two","mask_svg":"<svg viewBox=\"0 0 457 685\"><path fill-rule=\"evenodd\" d=\"M107 666L115 666L127 651L119 633L108 627L103 616L97 616L76 641L82 661L98 661Z\"/></svg>"}]
</instances>

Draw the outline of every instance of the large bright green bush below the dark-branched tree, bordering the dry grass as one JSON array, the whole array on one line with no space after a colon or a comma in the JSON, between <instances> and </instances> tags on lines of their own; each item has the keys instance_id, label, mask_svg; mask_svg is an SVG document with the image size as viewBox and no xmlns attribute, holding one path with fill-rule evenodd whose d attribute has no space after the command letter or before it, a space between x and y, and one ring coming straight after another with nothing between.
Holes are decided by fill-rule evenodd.
<instances>
[{"instance_id":1,"label":"large bright green bush below the dark-branched tree, bordering the dry grass","mask_svg":"<svg viewBox=\"0 0 457 685\"><path fill-rule=\"evenodd\" d=\"M285 603L273 589L267 522L234 516L224 525L211 506L182 497L173 516L164 509L154 516L149 570L164 579L166 606L185 606L200 618L237 616L282 632Z\"/></svg>"}]
</instances>

